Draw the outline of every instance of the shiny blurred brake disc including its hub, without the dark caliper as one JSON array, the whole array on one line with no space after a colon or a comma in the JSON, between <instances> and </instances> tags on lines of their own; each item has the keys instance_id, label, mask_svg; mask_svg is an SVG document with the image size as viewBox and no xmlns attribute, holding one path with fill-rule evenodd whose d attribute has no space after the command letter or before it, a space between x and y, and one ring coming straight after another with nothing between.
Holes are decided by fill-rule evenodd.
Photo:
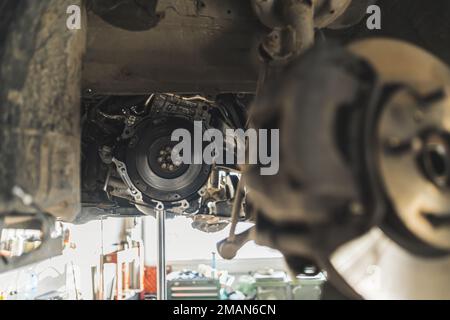
<instances>
[{"instance_id":1,"label":"shiny blurred brake disc including its hub, without the dark caliper","mask_svg":"<svg viewBox=\"0 0 450 320\"><path fill-rule=\"evenodd\" d=\"M332 263L365 298L450 298L450 71L400 41L350 47L390 93L374 150L390 210L379 228L341 246Z\"/></svg>"}]
</instances>

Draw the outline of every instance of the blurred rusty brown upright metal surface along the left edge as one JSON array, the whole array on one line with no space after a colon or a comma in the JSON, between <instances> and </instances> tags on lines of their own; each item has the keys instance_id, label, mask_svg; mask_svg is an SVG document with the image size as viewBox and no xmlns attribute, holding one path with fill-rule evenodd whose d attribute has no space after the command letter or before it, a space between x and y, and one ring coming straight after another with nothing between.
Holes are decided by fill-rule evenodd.
<instances>
[{"instance_id":1,"label":"blurred rusty brown upright metal surface along the left edge","mask_svg":"<svg viewBox=\"0 0 450 320\"><path fill-rule=\"evenodd\" d=\"M83 31L66 28L81 1L20 1L0 73L0 214L30 212L19 186L45 211L71 220L80 203L79 93Z\"/></svg>"}]
</instances>

